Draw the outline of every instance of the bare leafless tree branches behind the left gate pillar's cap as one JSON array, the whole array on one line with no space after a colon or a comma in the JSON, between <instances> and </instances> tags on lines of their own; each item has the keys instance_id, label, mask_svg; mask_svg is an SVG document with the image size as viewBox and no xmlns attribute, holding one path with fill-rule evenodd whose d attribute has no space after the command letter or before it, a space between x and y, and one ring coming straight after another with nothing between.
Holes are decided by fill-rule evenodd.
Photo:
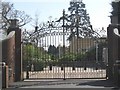
<instances>
[{"instance_id":1,"label":"bare leafless tree branches behind the left gate pillar's cap","mask_svg":"<svg viewBox=\"0 0 120 90\"><path fill-rule=\"evenodd\" d=\"M12 3L2 2L3 29L8 28L8 26L10 25L10 19L17 19L19 21L18 26L22 27L29 23L32 18L24 11L16 10Z\"/></svg>"}]
</instances>

